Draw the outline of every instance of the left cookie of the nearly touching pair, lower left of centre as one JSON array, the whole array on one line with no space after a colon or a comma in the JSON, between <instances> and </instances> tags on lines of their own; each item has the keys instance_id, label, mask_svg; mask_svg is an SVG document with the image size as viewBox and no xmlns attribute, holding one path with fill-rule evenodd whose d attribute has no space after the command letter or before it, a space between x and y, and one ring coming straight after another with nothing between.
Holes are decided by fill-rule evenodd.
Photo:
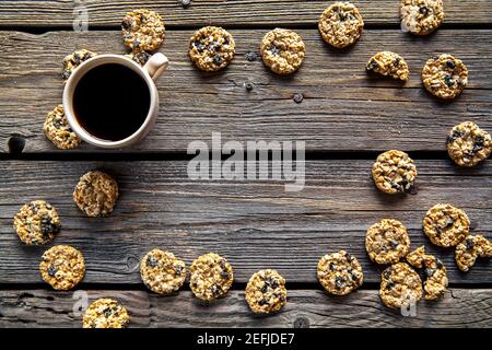
<instances>
[{"instance_id":1,"label":"left cookie of the nearly touching pair, lower left of centre","mask_svg":"<svg viewBox=\"0 0 492 350\"><path fill-rule=\"evenodd\" d=\"M140 261L140 276L151 291L172 294L185 283L186 266L173 253L152 249Z\"/></svg>"}]
</instances>

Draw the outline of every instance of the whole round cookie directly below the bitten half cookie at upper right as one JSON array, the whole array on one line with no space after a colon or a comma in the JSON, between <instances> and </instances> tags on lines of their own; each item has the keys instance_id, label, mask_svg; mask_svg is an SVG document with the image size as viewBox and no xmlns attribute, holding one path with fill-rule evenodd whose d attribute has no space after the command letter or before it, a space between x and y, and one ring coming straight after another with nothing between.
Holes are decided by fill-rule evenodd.
<instances>
[{"instance_id":1,"label":"whole round cookie directly below the bitten half cookie at upper right","mask_svg":"<svg viewBox=\"0 0 492 350\"><path fill-rule=\"evenodd\" d=\"M412 192L415 188L417 167L405 152L390 150L379 154L372 175L376 187L385 194Z\"/></svg>"}]
</instances>

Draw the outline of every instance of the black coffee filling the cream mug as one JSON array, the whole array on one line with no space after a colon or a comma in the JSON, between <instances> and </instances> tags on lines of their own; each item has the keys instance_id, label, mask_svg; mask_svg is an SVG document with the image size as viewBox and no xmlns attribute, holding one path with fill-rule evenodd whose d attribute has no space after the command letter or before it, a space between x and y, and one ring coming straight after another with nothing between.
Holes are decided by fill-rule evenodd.
<instances>
[{"instance_id":1,"label":"black coffee filling the cream mug","mask_svg":"<svg viewBox=\"0 0 492 350\"><path fill-rule=\"evenodd\" d=\"M85 73L73 92L73 112L92 136L119 141L145 121L151 104L147 82L117 63L97 66Z\"/></svg>"}]
</instances>

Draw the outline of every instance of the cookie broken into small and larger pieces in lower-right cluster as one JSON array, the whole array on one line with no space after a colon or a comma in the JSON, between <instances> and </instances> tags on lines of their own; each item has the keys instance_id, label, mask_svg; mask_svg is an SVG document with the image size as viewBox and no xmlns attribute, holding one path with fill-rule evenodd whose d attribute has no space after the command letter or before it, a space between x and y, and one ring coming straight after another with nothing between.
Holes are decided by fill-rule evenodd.
<instances>
[{"instance_id":1,"label":"cookie broken into small and larger pieces in lower-right cluster","mask_svg":"<svg viewBox=\"0 0 492 350\"><path fill-rule=\"evenodd\" d=\"M425 254L424 246L409 253L407 261L413 267L424 269L425 280L423 288L425 300L436 300L444 294L448 280L443 261L433 255Z\"/></svg>"}]
</instances>

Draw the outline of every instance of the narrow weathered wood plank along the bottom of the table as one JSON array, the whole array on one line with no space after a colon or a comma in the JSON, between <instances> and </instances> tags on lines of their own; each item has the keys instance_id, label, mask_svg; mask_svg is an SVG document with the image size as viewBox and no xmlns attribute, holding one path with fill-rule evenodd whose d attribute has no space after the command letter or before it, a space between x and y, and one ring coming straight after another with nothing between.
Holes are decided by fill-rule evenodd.
<instances>
[{"instance_id":1,"label":"narrow weathered wood plank along the bottom of the table","mask_svg":"<svg viewBox=\"0 0 492 350\"><path fill-rule=\"evenodd\" d=\"M288 285L289 288L289 285ZM385 307L377 291L329 296L316 290L289 290L278 314L255 316L243 291L230 291L204 305L189 291L159 296L147 291L87 291L89 302L115 298L127 306L130 327L492 327L492 290L452 289L438 302L420 302L414 317ZM0 327L80 328L72 292L0 291Z\"/></svg>"}]
</instances>

